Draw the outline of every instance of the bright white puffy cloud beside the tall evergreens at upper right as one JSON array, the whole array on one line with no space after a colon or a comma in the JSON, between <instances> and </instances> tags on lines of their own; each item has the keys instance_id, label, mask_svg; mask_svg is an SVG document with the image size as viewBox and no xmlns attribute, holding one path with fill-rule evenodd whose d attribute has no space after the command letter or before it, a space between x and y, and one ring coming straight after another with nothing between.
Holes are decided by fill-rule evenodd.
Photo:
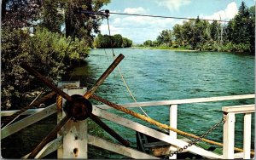
<instances>
[{"instance_id":1,"label":"bright white puffy cloud beside the tall evergreens at upper right","mask_svg":"<svg viewBox=\"0 0 256 160\"><path fill-rule=\"evenodd\" d=\"M237 5L235 2L229 3L224 10L219 10L212 15L203 16L204 19L209 20L230 20L238 13Z\"/></svg>"}]
</instances>

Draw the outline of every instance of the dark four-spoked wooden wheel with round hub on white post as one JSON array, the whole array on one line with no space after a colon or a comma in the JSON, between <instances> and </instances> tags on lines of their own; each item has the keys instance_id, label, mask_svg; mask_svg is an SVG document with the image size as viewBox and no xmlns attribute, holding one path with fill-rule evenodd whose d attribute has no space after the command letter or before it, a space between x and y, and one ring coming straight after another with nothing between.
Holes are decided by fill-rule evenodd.
<instances>
[{"instance_id":1,"label":"dark four-spoked wooden wheel with round hub on white post","mask_svg":"<svg viewBox=\"0 0 256 160\"><path fill-rule=\"evenodd\" d=\"M61 89L55 87L53 83L50 83L47 78L42 76L38 71L32 69L30 66L27 66L25 63L20 64L22 68L32 74L34 77L37 77L42 83L47 85L49 89L55 91L56 94L61 95L64 99L67 100L66 106L63 107L63 110L66 112L66 117L64 117L60 123L58 123L53 130L49 132L49 134L42 140L38 146L31 152L31 154L27 158L36 157L39 151L43 149L43 147L49 143L50 140L53 140L55 135L60 131L60 129L69 121L75 120L80 121L90 117L95 123L97 123L102 129L104 129L108 134L112 135L113 138L118 140L124 146L129 146L129 142L122 138L119 134L117 134L113 129L110 129L108 125L102 122L101 119L92 114L92 105L90 103L90 96L95 93L96 89L103 83L103 81L108 77L108 75L113 71L113 69L119 65L119 62L124 59L123 54L119 54L119 56L113 61L113 63L108 67L106 71L102 74L101 77L96 81L91 89L89 89L84 96L74 94L69 96L64 93Z\"/></svg>"}]
</instances>

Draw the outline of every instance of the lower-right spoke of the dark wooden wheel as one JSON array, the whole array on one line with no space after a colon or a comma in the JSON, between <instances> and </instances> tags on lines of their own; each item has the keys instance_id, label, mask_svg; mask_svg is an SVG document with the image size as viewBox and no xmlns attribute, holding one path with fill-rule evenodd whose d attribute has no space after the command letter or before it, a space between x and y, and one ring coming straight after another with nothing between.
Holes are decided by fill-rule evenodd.
<instances>
[{"instance_id":1,"label":"lower-right spoke of the dark wooden wheel","mask_svg":"<svg viewBox=\"0 0 256 160\"><path fill-rule=\"evenodd\" d=\"M110 134L111 136L113 136L113 138L115 138L116 140L118 140L122 145L124 146L130 146L129 141L125 140L123 137L121 137L119 134L117 134L113 129L109 128L107 124L103 123L102 120L98 117L96 117L95 115L93 115L92 113L90 114L90 118L97 123L99 126L102 127L102 129L104 129L106 132L108 132L108 134Z\"/></svg>"}]
</instances>

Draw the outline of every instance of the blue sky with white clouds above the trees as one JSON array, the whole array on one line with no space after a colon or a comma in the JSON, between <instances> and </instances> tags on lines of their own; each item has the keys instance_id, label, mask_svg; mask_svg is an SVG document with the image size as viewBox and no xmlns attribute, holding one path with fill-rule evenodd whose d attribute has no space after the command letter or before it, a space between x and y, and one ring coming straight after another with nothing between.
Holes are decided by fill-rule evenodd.
<instances>
[{"instance_id":1,"label":"blue sky with white clouds above the trees","mask_svg":"<svg viewBox=\"0 0 256 160\"><path fill-rule=\"evenodd\" d=\"M111 0L103 6L111 12L125 14L151 14L209 20L230 20L238 12L242 0ZM244 0L247 7L255 4L255 0ZM139 17L131 15L110 14L111 35L120 34L128 37L133 43L155 40L160 31L171 29L175 24L183 24L183 20ZM102 34L108 34L108 22L102 21Z\"/></svg>"}]
</instances>

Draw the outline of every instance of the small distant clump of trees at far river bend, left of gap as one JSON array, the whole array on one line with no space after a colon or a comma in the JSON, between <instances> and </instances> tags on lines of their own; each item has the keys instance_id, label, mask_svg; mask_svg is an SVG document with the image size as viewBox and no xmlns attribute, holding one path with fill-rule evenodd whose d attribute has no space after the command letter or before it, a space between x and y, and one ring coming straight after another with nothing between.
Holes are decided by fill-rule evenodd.
<instances>
[{"instance_id":1,"label":"small distant clump of trees at far river bend, left of gap","mask_svg":"<svg viewBox=\"0 0 256 160\"><path fill-rule=\"evenodd\" d=\"M113 36L98 34L94 41L94 46L101 49L127 48L131 47L131 44L132 41L130 39L119 34Z\"/></svg>"}]
</instances>

